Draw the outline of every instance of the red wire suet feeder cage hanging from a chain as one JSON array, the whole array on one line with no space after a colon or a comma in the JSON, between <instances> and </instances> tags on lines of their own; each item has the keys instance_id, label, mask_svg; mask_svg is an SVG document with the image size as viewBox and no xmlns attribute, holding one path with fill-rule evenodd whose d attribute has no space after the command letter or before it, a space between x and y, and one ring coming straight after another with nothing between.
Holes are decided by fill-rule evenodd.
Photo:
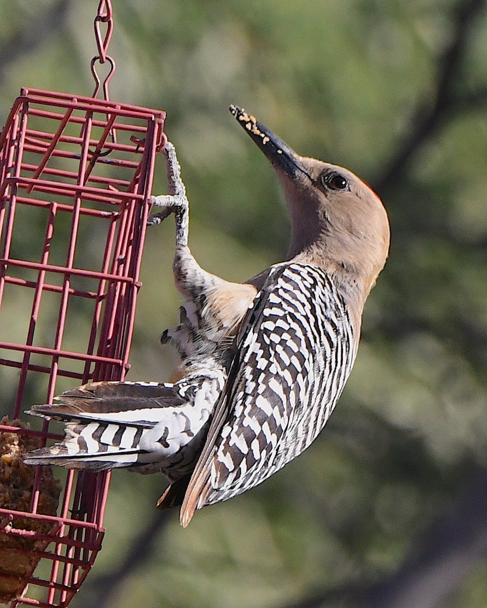
<instances>
[{"instance_id":1,"label":"red wire suet feeder cage hanging from a chain","mask_svg":"<svg viewBox=\"0 0 487 608\"><path fill-rule=\"evenodd\" d=\"M0 373L18 370L13 418L33 400L51 402L60 383L124 379L164 118L35 89L16 99L0 136ZM59 430L0 426L41 445ZM110 474L68 471L56 517L37 513L39 478L29 513L0 508L0 534L40 541L30 554L50 564L26 574L12 608L68 606L103 538ZM15 529L14 516L51 531Z\"/></svg>"}]
</instances>

